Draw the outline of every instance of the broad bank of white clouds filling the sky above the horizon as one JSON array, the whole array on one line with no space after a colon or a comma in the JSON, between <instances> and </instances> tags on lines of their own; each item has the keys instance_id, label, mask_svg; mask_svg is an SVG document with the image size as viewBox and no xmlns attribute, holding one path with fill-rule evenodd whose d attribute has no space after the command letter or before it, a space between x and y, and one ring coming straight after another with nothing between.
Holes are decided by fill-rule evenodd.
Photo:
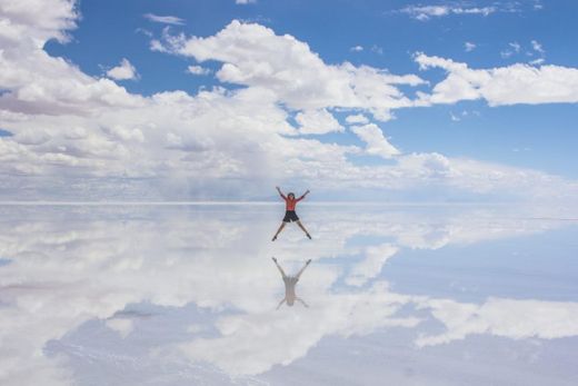
<instances>
[{"instance_id":1,"label":"broad bank of white clouds filling the sky above the horizon","mask_svg":"<svg viewBox=\"0 0 578 386\"><path fill-rule=\"evenodd\" d=\"M421 76L328 65L292 36L233 20L215 36L165 30L151 41L153 50L195 61L189 66L195 75L209 75L199 63L219 62L215 77L221 86L144 97L42 49L49 39L66 41L77 27L73 1L29 2L47 11L17 1L0 8L6 90L0 118L2 129L13 133L0 137L4 200L245 199L288 181L328 196L370 199L412 199L419 191L466 199L576 196L576 181L400 150L385 131L396 109L474 99L490 106L576 102L577 69L477 70L419 53L415 59L422 69L448 73L429 92ZM116 79L136 77L128 60L109 72ZM349 118L339 117L343 111ZM359 141L340 145L327 140L328 133ZM368 194L359 196L363 190Z\"/></svg>"}]
</instances>

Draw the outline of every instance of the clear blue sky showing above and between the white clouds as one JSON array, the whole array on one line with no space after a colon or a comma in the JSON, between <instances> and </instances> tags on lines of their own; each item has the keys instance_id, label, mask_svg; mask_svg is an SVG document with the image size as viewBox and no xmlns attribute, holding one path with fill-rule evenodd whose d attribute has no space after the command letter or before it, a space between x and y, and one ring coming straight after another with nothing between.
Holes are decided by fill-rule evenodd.
<instances>
[{"instance_id":1,"label":"clear blue sky showing above and between the white clouds","mask_svg":"<svg viewBox=\"0 0 578 386\"><path fill-rule=\"evenodd\" d=\"M72 32L74 40L68 44L50 43L47 50L70 58L93 76L102 75L101 66L114 66L127 57L141 78L137 82L126 81L123 86L146 95L165 90L195 93L199 87L217 83L210 76L191 77L186 72L187 66L195 60L150 51L149 39L139 29L160 34L167 24L147 20L146 13L181 18L183 24L171 29L201 37L218 32L232 19L255 21L272 28L278 34L289 33L306 41L328 63L350 61L393 73L416 72L417 65L411 55L417 51L449 57L474 68L527 62L540 57L531 49L532 40L542 44L548 63L578 66L578 51L569 49L578 38L578 4L575 2L526 1L516 6L516 12L487 17L448 16L427 21L396 12L408 4L413 3L258 1L242 6L231 0L83 1L80 28ZM544 8L534 9L535 4ZM475 43L476 48L467 52L466 41ZM521 46L520 52L504 58L500 52L511 50L509 44L514 42ZM356 46L363 47L363 51L351 51ZM440 76L439 71L429 72L428 79ZM464 112L468 116L460 117ZM397 120L386 123L387 130L406 150L441 151L578 178L578 168L571 161L576 160L578 146L578 133L571 123L578 120L576 105L492 109L486 102L464 102L401 110L396 115ZM460 121L452 121L451 115ZM350 137L347 140L355 141L353 136Z\"/></svg>"}]
</instances>

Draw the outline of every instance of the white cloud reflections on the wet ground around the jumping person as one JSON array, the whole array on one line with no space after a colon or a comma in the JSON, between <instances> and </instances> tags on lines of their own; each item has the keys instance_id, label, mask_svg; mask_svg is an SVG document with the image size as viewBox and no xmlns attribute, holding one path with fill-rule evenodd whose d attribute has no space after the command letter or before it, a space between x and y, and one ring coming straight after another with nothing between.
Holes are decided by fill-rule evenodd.
<instances>
[{"instance_id":1,"label":"white cloud reflections on the wet ground around the jumping person","mask_svg":"<svg viewBox=\"0 0 578 386\"><path fill-rule=\"evenodd\" d=\"M408 250L539 235L572 226L568 222L521 219L501 209L335 212L309 206L303 215L318 235L315 243L288 229L272 245L267 236L277 212L262 207L3 207L2 215L0 257L10 261L0 265L2 384L78 383L86 368L78 363L89 359L71 359L71 345L78 340L89 349L93 342L82 334L99 320L99 328L111 331L106 338L111 356L123 344L150 340L139 360L152 367L167 360L195 364L182 382L195 378L191 374L209 379L207 372L225 372L217 383L289 366L329 337L371 337L396 328L412 331L406 346L415 350L482 334L578 335L578 303L488 296L476 304L400 294L382 275ZM276 311L279 273L271 269L271 256L296 270L313 259L299 281L309 308ZM211 317L179 316L190 305ZM163 309L175 310L165 324L180 326L182 334L162 325L147 333ZM69 345L47 352L58 340Z\"/></svg>"}]
</instances>

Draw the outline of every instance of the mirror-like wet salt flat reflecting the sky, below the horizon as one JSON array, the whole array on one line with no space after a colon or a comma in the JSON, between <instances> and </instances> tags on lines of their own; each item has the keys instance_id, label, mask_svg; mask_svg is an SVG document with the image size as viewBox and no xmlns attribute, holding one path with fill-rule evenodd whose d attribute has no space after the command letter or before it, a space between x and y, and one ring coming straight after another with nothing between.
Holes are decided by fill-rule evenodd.
<instances>
[{"instance_id":1,"label":"mirror-like wet salt flat reflecting the sky, below the horizon","mask_svg":"<svg viewBox=\"0 0 578 386\"><path fill-rule=\"evenodd\" d=\"M564 208L0 206L1 385L576 385ZM295 300L286 276L296 276Z\"/></svg>"}]
</instances>

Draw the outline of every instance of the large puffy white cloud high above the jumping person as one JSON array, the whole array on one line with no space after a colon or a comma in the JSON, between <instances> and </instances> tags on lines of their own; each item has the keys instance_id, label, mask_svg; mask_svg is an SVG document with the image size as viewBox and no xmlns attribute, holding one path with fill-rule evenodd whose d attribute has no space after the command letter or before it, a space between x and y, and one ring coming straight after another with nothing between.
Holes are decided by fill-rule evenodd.
<instances>
[{"instance_id":1,"label":"large puffy white cloud high above the jumping person","mask_svg":"<svg viewBox=\"0 0 578 386\"><path fill-rule=\"evenodd\" d=\"M395 76L349 62L326 65L307 43L293 37L277 36L263 26L237 20L208 38L165 34L156 47L200 62L221 61L219 80L268 89L280 102L297 110L365 108L377 119L388 120L390 109L412 105L397 85L425 83L415 75Z\"/></svg>"}]
</instances>

